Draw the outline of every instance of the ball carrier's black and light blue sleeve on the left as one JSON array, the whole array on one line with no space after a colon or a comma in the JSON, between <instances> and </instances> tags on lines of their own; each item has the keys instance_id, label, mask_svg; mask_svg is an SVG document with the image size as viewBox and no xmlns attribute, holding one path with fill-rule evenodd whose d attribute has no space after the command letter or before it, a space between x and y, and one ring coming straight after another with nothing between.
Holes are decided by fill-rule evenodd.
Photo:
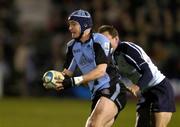
<instances>
[{"instance_id":1,"label":"ball carrier's black and light blue sleeve on the left","mask_svg":"<svg viewBox=\"0 0 180 127\"><path fill-rule=\"evenodd\" d=\"M76 61L74 59L73 53L72 53L72 44L68 44L67 45L67 50L66 50L66 58L65 58L65 62L64 62L64 68L66 68L67 70L74 72L76 69Z\"/></svg>"}]
</instances>

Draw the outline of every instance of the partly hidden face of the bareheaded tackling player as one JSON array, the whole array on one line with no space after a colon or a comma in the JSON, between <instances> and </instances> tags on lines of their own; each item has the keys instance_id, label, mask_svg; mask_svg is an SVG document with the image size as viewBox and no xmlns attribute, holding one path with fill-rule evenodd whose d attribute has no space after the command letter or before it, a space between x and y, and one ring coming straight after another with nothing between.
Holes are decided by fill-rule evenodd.
<instances>
[{"instance_id":1,"label":"partly hidden face of the bareheaded tackling player","mask_svg":"<svg viewBox=\"0 0 180 127\"><path fill-rule=\"evenodd\" d=\"M116 49L119 43L119 37L118 36L112 37L109 34L109 32L103 32L102 34L105 35L110 40L112 48Z\"/></svg>"}]
</instances>

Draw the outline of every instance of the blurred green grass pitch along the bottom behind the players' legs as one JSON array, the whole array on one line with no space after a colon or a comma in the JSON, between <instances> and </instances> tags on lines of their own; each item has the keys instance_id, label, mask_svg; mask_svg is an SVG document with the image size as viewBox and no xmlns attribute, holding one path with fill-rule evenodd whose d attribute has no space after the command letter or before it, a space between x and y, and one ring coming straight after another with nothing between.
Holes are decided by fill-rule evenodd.
<instances>
[{"instance_id":1,"label":"blurred green grass pitch along the bottom behind the players' legs","mask_svg":"<svg viewBox=\"0 0 180 127\"><path fill-rule=\"evenodd\" d=\"M0 100L0 127L84 127L90 101L53 98ZM178 127L180 103L169 127ZM128 101L113 127L134 127L135 102Z\"/></svg>"}]
</instances>

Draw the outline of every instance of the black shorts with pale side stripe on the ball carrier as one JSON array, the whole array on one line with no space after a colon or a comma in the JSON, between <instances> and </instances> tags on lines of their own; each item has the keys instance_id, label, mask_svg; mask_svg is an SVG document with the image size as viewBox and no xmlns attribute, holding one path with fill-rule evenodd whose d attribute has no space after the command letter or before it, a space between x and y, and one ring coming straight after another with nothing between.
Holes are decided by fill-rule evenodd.
<instances>
[{"instance_id":1,"label":"black shorts with pale side stripe on the ball carrier","mask_svg":"<svg viewBox=\"0 0 180 127\"><path fill-rule=\"evenodd\" d=\"M126 105L126 88L119 81L112 80L110 82L110 87L106 89L102 89L97 91L94 99L92 100L91 110L96 106L97 101L100 97L107 97L112 100L116 106L118 107L118 113L124 108Z\"/></svg>"}]
</instances>

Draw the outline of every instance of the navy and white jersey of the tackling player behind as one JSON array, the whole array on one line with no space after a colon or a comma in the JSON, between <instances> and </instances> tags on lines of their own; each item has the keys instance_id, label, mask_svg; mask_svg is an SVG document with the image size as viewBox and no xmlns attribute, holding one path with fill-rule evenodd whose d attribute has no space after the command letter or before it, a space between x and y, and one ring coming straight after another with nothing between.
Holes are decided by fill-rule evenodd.
<instances>
[{"instance_id":1,"label":"navy and white jersey of the tackling player behind","mask_svg":"<svg viewBox=\"0 0 180 127\"><path fill-rule=\"evenodd\" d=\"M131 66L131 71L128 70L129 72L133 74L137 71L139 73L137 85L140 86L141 90L155 86L165 78L149 56L138 45L131 42L120 42L114 52L114 56L117 59L120 55L124 57L127 65ZM121 68L121 63L119 63L119 70L121 69L123 68Z\"/></svg>"}]
</instances>

